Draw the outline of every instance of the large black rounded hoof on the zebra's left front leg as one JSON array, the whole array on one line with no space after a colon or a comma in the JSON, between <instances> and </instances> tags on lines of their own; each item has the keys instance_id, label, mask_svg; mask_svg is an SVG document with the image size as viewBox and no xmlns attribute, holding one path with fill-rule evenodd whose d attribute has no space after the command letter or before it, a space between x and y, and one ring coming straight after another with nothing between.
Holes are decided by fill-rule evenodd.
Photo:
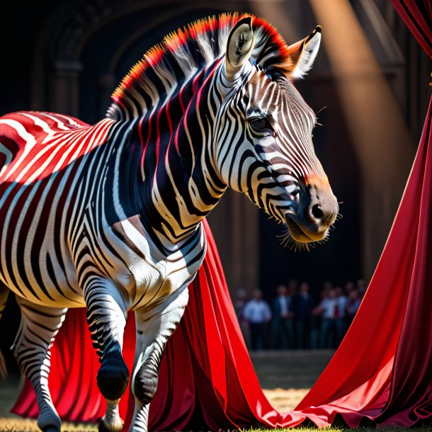
<instances>
[{"instance_id":1,"label":"large black rounded hoof on the zebra's left front leg","mask_svg":"<svg viewBox=\"0 0 432 432\"><path fill-rule=\"evenodd\" d=\"M122 396L129 382L129 369L120 351L111 351L103 358L96 379L106 399L116 400Z\"/></svg>"}]
</instances>

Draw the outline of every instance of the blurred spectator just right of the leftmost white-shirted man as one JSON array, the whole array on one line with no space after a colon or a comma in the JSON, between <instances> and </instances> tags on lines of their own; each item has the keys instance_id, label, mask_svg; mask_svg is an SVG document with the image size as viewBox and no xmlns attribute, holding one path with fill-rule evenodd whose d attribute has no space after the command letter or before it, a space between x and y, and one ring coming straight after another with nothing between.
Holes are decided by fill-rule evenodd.
<instances>
[{"instance_id":1,"label":"blurred spectator just right of the leftmost white-shirted man","mask_svg":"<svg viewBox=\"0 0 432 432\"><path fill-rule=\"evenodd\" d=\"M271 348L294 347L293 317L292 300L287 296L285 285L279 285L276 288L276 297L272 307Z\"/></svg>"}]
</instances>

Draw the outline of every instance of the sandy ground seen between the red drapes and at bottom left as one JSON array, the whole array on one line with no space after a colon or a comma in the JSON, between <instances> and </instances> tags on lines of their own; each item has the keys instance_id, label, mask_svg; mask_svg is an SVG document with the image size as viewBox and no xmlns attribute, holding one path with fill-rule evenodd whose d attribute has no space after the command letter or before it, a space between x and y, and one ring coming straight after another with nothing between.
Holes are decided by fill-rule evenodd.
<instances>
[{"instance_id":1,"label":"sandy ground seen between the red drapes and at bottom left","mask_svg":"<svg viewBox=\"0 0 432 432\"><path fill-rule=\"evenodd\" d=\"M278 411L294 409L331 359L333 351L261 351L251 353L263 392ZM0 382L0 431L39 431L36 422L9 411L19 393L20 380ZM63 424L62 431L97 431L96 425Z\"/></svg>"}]
</instances>

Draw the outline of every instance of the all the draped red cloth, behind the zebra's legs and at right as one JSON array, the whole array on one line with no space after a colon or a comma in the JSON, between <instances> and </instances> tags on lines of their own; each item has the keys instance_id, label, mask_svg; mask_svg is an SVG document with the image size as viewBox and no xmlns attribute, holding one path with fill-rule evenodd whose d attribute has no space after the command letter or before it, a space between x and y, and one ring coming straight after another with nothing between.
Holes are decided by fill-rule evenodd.
<instances>
[{"instance_id":1,"label":"all the draped red cloth, behind the zebra's legs and at right","mask_svg":"<svg viewBox=\"0 0 432 432\"><path fill-rule=\"evenodd\" d=\"M430 4L392 3L431 55ZM305 419L325 426L338 413L351 427L363 418L410 426L432 416L431 110L432 105L390 236L356 319L295 411L275 411L261 391L204 222L208 252L191 284L183 320L166 347L150 409L151 430L219 430L256 423L288 427ZM123 348L129 365L134 327L130 316ZM98 367L84 310L70 310L52 348L50 375L52 399L62 419L96 421L103 416ZM126 426L132 403L127 390L120 402ZM38 416L28 382L13 412Z\"/></svg>"}]
</instances>

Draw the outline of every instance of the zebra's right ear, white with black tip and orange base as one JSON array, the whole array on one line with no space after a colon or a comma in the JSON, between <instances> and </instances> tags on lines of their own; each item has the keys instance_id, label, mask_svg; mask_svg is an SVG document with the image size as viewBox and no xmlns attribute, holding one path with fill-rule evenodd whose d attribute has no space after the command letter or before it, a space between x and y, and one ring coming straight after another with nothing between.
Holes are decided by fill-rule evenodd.
<instances>
[{"instance_id":1,"label":"zebra's right ear, white with black tip and orange base","mask_svg":"<svg viewBox=\"0 0 432 432\"><path fill-rule=\"evenodd\" d=\"M288 47L291 59L291 70L288 76L293 79L303 78L314 64L321 42L321 25L317 25L307 38L299 40Z\"/></svg>"}]
</instances>

